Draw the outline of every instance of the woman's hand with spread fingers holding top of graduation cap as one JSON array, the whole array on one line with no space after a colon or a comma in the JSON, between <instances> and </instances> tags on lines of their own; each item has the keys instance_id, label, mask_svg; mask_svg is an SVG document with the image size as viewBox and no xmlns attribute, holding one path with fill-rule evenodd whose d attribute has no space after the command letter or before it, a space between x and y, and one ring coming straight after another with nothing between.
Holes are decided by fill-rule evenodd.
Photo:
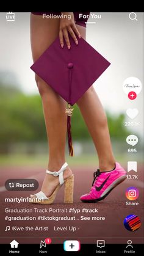
<instances>
[{"instance_id":1,"label":"woman's hand with spread fingers holding top of graduation cap","mask_svg":"<svg viewBox=\"0 0 144 256\"><path fill-rule=\"evenodd\" d=\"M74 14L73 12L63 12L63 15L71 16L70 20L68 18L60 18L60 31L59 31L59 38L60 38L60 45L63 48L64 42L63 37L65 38L65 42L67 43L68 49L71 48L70 40L68 33L70 33L71 37L73 38L76 45L78 45L78 41L76 35L81 38L79 31L77 30L76 24L74 22Z\"/></svg>"}]
</instances>

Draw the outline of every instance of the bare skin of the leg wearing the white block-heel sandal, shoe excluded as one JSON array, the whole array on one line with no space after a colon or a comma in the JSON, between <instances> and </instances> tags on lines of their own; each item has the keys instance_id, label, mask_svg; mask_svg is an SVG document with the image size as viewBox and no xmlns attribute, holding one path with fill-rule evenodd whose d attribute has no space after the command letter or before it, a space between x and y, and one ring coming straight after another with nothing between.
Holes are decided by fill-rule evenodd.
<instances>
[{"instance_id":1,"label":"bare skin of the leg wearing the white block-heel sandal, shoe excluded","mask_svg":"<svg viewBox=\"0 0 144 256\"><path fill-rule=\"evenodd\" d=\"M31 47L35 60L48 48L59 35L59 19L43 19L40 15L31 14ZM49 144L48 170L57 171L65 163L65 141L67 134L67 115L65 101L52 90L40 77L35 77L40 92L43 113L45 116L46 132ZM67 178L71 170L63 173ZM41 191L50 196L59 184L59 177L46 174Z\"/></svg>"}]
</instances>

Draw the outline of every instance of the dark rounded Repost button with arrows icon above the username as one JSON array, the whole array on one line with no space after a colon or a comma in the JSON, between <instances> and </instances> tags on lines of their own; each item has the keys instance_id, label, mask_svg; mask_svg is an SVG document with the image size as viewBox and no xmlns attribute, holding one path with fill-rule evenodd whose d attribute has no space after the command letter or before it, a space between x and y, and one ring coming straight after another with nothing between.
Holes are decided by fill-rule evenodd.
<instances>
[{"instance_id":1,"label":"dark rounded Repost button with arrows icon above the username","mask_svg":"<svg viewBox=\"0 0 144 256\"><path fill-rule=\"evenodd\" d=\"M38 181L29 178L13 178L5 181L5 189L9 191L35 191Z\"/></svg>"}]
</instances>

